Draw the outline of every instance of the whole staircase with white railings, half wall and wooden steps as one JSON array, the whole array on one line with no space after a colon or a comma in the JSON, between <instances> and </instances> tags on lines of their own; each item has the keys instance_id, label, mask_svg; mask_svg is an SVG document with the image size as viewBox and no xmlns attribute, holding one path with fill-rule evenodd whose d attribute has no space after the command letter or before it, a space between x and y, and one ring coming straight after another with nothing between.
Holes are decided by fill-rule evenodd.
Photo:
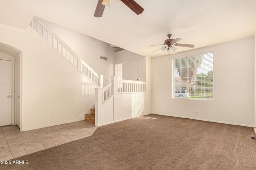
<instances>
[{"instance_id":1,"label":"whole staircase with white railings, half wall and wooden steps","mask_svg":"<svg viewBox=\"0 0 256 170\"><path fill-rule=\"evenodd\" d=\"M107 125L124 119L130 119L141 115L144 108L144 92L146 92L146 82L133 81L133 80L119 80L117 77L112 77L112 81L103 87L103 75L97 74L88 64L86 64L68 45L66 45L57 35L44 25L39 18L34 17L28 27L36 32L38 37L54 49L58 55L66 60L71 66L78 70L84 77L86 77L95 88L95 108L96 108L96 122L95 122L95 109L91 109L91 114L88 114L86 109L85 119L95 123L95 126ZM119 98L124 98L124 95L130 95L129 100L122 101ZM114 97L116 96L116 97ZM127 97L126 97L127 98ZM131 105L131 109L126 109L126 116L124 113L118 112L121 106L127 104ZM91 107L90 107L91 108ZM132 115L131 115L132 113ZM83 113L84 114L84 113ZM123 114L118 116L118 114ZM82 116L82 115L80 115ZM118 117L123 117L118 119ZM83 119L79 117L79 119Z\"/></svg>"}]
</instances>

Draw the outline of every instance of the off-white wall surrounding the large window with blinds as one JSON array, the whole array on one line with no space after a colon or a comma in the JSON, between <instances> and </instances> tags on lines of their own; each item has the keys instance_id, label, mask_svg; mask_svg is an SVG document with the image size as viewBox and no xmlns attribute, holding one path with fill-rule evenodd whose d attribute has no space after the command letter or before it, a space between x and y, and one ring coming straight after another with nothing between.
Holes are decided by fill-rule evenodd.
<instances>
[{"instance_id":1,"label":"off-white wall surrounding the large window with blinds","mask_svg":"<svg viewBox=\"0 0 256 170\"><path fill-rule=\"evenodd\" d=\"M169 56L152 58L152 112L253 126L254 47L254 37L250 37L170 56L214 50L213 100L172 98L172 59Z\"/></svg>"}]
</instances>

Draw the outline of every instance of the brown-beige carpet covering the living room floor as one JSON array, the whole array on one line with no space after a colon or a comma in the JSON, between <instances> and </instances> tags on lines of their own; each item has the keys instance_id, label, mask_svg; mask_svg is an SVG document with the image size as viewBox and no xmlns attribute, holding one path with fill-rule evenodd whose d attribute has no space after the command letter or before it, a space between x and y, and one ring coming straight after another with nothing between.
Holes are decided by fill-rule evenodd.
<instances>
[{"instance_id":1,"label":"brown-beige carpet covering the living room floor","mask_svg":"<svg viewBox=\"0 0 256 170\"><path fill-rule=\"evenodd\" d=\"M252 135L250 127L152 114L99 127L90 137L14 159L28 164L0 169L256 169Z\"/></svg>"}]
</instances>

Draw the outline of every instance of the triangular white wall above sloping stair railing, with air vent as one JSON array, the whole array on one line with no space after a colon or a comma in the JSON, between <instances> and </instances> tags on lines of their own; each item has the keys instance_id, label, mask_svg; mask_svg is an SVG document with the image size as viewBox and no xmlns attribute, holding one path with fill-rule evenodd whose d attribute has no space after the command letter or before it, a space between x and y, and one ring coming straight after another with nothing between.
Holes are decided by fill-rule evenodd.
<instances>
[{"instance_id":1,"label":"triangular white wall above sloping stair railing, with air vent","mask_svg":"<svg viewBox=\"0 0 256 170\"><path fill-rule=\"evenodd\" d=\"M115 48L110 47L108 43L82 33L72 31L46 20L40 20L94 71L104 75L104 86L111 81L111 77L114 76ZM102 60L100 56L107 57L108 60Z\"/></svg>"}]
</instances>

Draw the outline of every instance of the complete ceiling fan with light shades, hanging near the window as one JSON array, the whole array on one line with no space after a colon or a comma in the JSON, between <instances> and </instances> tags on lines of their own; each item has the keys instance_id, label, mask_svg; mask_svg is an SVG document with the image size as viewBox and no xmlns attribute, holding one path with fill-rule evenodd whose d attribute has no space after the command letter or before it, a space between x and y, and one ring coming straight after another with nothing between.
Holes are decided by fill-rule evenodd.
<instances>
[{"instance_id":1,"label":"complete ceiling fan with light shades, hanging near the window","mask_svg":"<svg viewBox=\"0 0 256 170\"><path fill-rule=\"evenodd\" d=\"M166 39L164 41L164 44L158 44L158 45L165 45L164 47L161 47L160 49L162 50L162 52L168 52L170 53L170 51L172 52L172 54L175 54L177 52L177 48L174 47L175 46L180 46L180 47L189 47L189 48L193 48L195 45L192 44L178 44L178 41L181 41L182 39L180 38L176 38L176 39L170 39L170 37L172 37L172 34L168 34L167 35L169 39ZM155 45L150 45L150 46L155 46ZM156 51L160 50L157 49ZM155 51L153 51L152 53L154 53Z\"/></svg>"}]
</instances>

